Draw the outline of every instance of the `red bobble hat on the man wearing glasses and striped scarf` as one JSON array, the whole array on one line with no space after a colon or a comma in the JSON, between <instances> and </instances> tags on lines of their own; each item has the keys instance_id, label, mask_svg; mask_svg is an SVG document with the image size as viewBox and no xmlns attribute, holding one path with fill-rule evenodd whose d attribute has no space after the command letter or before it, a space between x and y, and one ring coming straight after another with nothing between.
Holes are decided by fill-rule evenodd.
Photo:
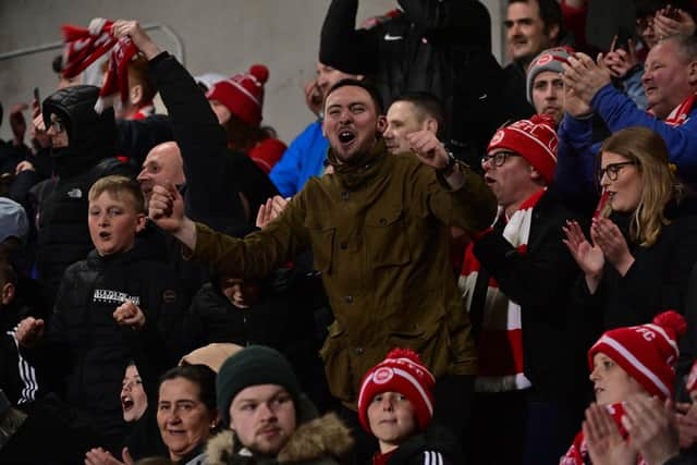
<instances>
[{"instance_id":1,"label":"red bobble hat on the man wearing glasses and striped scarf","mask_svg":"<svg viewBox=\"0 0 697 465\"><path fill-rule=\"evenodd\" d=\"M557 143L552 118L548 114L535 114L529 120L516 121L497 131L487 151L491 152L497 148L515 151L550 184L557 168Z\"/></svg>"}]
</instances>

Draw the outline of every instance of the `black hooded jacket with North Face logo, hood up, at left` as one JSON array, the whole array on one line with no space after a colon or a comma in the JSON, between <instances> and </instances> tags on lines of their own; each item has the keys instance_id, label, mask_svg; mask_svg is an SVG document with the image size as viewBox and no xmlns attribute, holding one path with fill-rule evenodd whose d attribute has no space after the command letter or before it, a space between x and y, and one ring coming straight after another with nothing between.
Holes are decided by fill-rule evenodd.
<instances>
[{"instance_id":1,"label":"black hooded jacket with North Face logo, hood up, at left","mask_svg":"<svg viewBox=\"0 0 697 465\"><path fill-rule=\"evenodd\" d=\"M99 95L95 86L68 87L52 94L42 105L48 127L51 114L65 125L69 146L51 149L56 178L37 189L39 280L46 285L49 303L58 291L69 265L93 248L87 229L87 194L100 178L135 175L115 158L117 129L113 110L97 114Z\"/></svg>"}]
</instances>

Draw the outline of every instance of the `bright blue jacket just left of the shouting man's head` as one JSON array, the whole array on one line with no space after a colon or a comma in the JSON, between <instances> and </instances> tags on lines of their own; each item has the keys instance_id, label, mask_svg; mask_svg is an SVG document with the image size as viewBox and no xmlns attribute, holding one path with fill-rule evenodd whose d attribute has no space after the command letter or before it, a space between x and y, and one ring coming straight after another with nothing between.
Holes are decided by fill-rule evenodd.
<instances>
[{"instance_id":1,"label":"bright blue jacket just left of the shouting man's head","mask_svg":"<svg viewBox=\"0 0 697 465\"><path fill-rule=\"evenodd\" d=\"M322 173L327 149L329 142L322 135L321 121L315 121L293 139L269 175L283 197L294 196L307 180Z\"/></svg>"}]
</instances>

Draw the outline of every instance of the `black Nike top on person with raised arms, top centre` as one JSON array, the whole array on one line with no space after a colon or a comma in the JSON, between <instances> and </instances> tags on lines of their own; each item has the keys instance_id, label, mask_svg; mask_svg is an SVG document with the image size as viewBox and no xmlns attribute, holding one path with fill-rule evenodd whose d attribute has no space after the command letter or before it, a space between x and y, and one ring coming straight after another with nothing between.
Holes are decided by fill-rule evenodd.
<instances>
[{"instance_id":1,"label":"black Nike top on person with raised arms, top centre","mask_svg":"<svg viewBox=\"0 0 697 465\"><path fill-rule=\"evenodd\" d=\"M319 61L375 79L387 107L425 90L445 106L447 140L460 158L478 157L505 120L504 74L491 54L491 19L476 0L399 0L403 14L355 29L358 0L332 0ZM448 136L449 134L449 136ZM474 164L473 164L474 162Z\"/></svg>"}]
</instances>

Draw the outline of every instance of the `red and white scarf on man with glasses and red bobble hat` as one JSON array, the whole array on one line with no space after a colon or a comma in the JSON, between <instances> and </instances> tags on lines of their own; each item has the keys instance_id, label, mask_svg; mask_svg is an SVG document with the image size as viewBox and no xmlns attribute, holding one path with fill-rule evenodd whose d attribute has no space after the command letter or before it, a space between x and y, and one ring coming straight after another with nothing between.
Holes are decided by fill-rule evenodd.
<instances>
[{"instance_id":1,"label":"red and white scarf on man with glasses and red bobble hat","mask_svg":"<svg viewBox=\"0 0 697 465\"><path fill-rule=\"evenodd\" d=\"M533 209L545 192L546 189L542 188L525 200L503 229L503 237L517 249L518 254L527 252ZM503 220L503 209L499 208L497 222ZM472 308L477 277L481 268L473 250L474 244L470 243L465 250L457 282L468 309ZM475 391L503 392L529 388L533 384L523 372L521 306L499 289L493 277L489 279L485 306L478 341L479 374L475 380Z\"/></svg>"}]
</instances>

